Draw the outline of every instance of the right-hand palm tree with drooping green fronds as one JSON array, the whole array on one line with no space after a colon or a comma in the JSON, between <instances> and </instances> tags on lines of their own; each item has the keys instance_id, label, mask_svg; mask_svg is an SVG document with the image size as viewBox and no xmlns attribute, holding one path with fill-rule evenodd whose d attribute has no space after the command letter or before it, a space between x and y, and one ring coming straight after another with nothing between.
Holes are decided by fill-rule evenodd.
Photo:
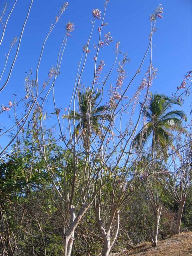
<instances>
[{"instance_id":1,"label":"right-hand palm tree with drooping green fronds","mask_svg":"<svg viewBox=\"0 0 192 256\"><path fill-rule=\"evenodd\" d=\"M143 104L141 107L143 107ZM152 137L152 152L162 152L167 155L167 145L173 147L171 143L173 132L184 131L181 126L182 119L187 120L182 110L168 111L173 104L181 103L164 94L152 94L149 106L142 109L143 117L147 118L147 123L142 127L133 140L133 146L142 147L146 140Z\"/></svg>"}]
</instances>

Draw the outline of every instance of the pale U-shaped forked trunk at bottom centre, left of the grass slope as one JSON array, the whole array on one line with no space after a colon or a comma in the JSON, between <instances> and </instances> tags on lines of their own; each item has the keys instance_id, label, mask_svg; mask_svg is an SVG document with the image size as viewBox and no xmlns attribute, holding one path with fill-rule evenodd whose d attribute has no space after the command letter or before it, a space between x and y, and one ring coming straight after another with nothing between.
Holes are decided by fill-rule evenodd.
<instances>
[{"instance_id":1,"label":"pale U-shaped forked trunk at bottom centre, left of the grass slope","mask_svg":"<svg viewBox=\"0 0 192 256\"><path fill-rule=\"evenodd\" d=\"M100 207L98 205L96 206L95 213L96 213L97 226L99 228L100 234L103 239L102 256L108 256L109 252L117 238L118 232L119 232L119 211L116 208L116 206L114 205L112 208L111 217L109 219L106 230L104 229L102 221L101 221ZM110 237L111 226L112 226L114 219L116 220L115 231L114 231L113 236Z\"/></svg>"}]
</instances>

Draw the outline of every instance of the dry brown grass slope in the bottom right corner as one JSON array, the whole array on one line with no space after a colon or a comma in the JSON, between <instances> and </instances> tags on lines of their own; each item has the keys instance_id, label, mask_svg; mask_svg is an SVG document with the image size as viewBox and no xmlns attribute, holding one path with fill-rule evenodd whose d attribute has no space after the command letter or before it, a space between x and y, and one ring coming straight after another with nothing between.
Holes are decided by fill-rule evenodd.
<instances>
[{"instance_id":1,"label":"dry brown grass slope in the bottom right corner","mask_svg":"<svg viewBox=\"0 0 192 256\"><path fill-rule=\"evenodd\" d=\"M134 249L124 250L110 256L192 256L192 232L185 232L159 241L157 247L151 243L142 243Z\"/></svg>"}]
</instances>

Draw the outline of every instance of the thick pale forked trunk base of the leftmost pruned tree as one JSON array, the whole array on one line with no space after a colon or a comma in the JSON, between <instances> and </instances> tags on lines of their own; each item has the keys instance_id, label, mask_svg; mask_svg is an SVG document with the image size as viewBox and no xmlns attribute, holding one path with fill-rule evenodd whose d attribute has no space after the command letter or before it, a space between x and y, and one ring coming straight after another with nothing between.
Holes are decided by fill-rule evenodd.
<instances>
[{"instance_id":1,"label":"thick pale forked trunk base of the leftmost pruned tree","mask_svg":"<svg viewBox=\"0 0 192 256\"><path fill-rule=\"evenodd\" d=\"M63 239L63 248L61 251L61 256L71 256L71 251L73 247L73 239L74 239L74 233L77 225L79 224L81 218L89 208L90 204L84 204L80 211L78 212L78 215L75 216L75 207L72 205L70 208L70 228L67 231L66 235Z\"/></svg>"}]
</instances>

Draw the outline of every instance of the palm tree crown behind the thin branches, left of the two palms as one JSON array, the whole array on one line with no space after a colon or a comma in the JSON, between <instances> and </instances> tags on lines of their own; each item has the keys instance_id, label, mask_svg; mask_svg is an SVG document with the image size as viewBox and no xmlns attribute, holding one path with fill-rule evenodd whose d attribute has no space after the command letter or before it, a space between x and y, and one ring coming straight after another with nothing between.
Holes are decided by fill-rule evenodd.
<instances>
[{"instance_id":1,"label":"palm tree crown behind the thin branches, left of the two palms","mask_svg":"<svg viewBox=\"0 0 192 256\"><path fill-rule=\"evenodd\" d=\"M111 115L105 113L107 106L97 106L97 100L100 95L100 92L91 92L88 89L83 93L78 91L79 112L71 110L69 116L62 115L62 118L69 118L77 122L72 138L80 136L83 139L84 148L87 145L88 134L93 133L95 136L101 137L102 129L107 130L103 122L106 120L111 121Z\"/></svg>"}]
</instances>

